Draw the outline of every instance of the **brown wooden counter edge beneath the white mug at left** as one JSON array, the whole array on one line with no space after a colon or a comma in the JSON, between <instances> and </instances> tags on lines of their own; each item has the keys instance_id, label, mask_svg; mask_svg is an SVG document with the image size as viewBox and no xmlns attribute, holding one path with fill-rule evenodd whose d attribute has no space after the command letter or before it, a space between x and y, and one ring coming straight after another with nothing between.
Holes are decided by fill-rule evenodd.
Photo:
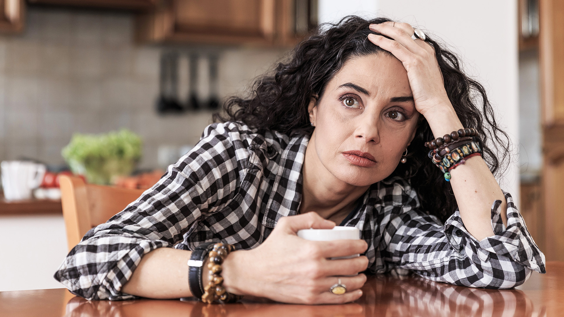
<instances>
[{"instance_id":1,"label":"brown wooden counter edge beneath the white mug at left","mask_svg":"<svg viewBox=\"0 0 564 317\"><path fill-rule=\"evenodd\" d=\"M0 216L29 214L63 214L60 200L29 199L7 201L0 192Z\"/></svg>"}]
</instances>

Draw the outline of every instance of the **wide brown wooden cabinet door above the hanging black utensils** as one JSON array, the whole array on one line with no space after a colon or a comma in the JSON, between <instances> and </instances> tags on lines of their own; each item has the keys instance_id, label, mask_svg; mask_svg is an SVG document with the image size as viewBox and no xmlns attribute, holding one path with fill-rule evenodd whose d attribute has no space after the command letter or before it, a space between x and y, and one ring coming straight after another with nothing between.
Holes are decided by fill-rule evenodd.
<instances>
[{"instance_id":1,"label":"wide brown wooden cabinet door above the hanging black utensils","mask_svg":"<svg viewBox=\"0 0 564 317\"><path fill-rule=\"evenodd\" d=\"M138 18L140 41L271 43L275 0L169 0Z\"/></svg>"}]
</instances>

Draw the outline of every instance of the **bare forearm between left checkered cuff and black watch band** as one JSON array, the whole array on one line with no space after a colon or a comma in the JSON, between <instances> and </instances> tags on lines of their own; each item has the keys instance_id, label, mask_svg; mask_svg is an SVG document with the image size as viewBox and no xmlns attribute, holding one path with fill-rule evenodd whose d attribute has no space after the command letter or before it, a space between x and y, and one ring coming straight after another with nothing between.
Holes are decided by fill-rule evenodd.
<instances>
[{"instance_id":1,"label":"bare forearm between left checkered cuff and black watch band","mask_svg":"<svg viewBox=\"0 0 564 317\"><path fill-rule=\"evenodd\" d=\"M192 296L187 265L191 254L173 248L159 248L145 254L121 291L157 299ZM207 266L204 268L207 270ZM204 274L202 276L207 276L207 271Z\"/></svg>"}]
</instances>

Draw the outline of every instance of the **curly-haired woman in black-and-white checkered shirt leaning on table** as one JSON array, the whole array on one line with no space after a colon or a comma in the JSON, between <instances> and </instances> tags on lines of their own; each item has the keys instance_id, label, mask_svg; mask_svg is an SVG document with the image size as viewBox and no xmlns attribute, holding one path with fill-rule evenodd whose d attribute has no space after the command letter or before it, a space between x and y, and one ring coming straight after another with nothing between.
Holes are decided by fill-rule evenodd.
<instances>
[{"instance_id":1,"label":"curly-haired woman in black-and-white checkered shirt leaning on table","mask_svg":"<svg viewBox=\"0 0 564 317\"><path fill-rule=\"evenodd\" d=\"M200 297L217 284L205 299L343 303L362 295L359 272L485 288L544 272L492 175L508 141L483 87L414 32L351 16L300 43L155 186L90 230L55 278L88 299ZM335 224L362 240L296 235Z\"/></svg>"}]
</instances>

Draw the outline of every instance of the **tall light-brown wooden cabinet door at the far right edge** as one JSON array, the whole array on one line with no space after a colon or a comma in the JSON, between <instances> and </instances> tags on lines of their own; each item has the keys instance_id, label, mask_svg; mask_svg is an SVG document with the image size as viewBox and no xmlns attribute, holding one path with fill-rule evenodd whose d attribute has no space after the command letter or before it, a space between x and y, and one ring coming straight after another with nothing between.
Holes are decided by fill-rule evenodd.
<instances>
[{"instance_id":1,"label":"tall light-brown wooden cabinet door at the far right edge","mask_svg":"<svg viewBox=\"0 0 564 317\"><path fill-rule=\"evenodd\" d=\"M539 5L545 256L564 261L564 1Z\"/></svg>"}]
</instances>

